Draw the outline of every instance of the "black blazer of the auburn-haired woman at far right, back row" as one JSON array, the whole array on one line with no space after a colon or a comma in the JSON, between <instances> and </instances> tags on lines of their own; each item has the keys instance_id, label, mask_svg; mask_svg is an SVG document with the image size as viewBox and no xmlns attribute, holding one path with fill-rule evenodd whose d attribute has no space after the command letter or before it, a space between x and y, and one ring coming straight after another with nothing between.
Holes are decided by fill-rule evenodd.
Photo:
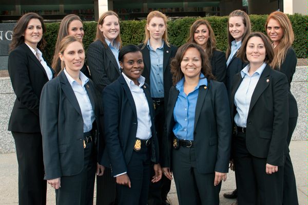
<instances>
[{"instance_id":1,"label":"black blazer of the auburn-haired woman at far right, back row","mask_svg":"<svg viewBox=\"0 0 308 205\"><path fill-rule=\"evenodd\" d=\"M297 102L291 93L291 82L293 74L295 73L297 58L293 48L289 48L286 52L285 59L282 62L279 71L286 75L288 81L288 103L289 103L289 117L298 117Z\"/></svg>"}]
</instances>

